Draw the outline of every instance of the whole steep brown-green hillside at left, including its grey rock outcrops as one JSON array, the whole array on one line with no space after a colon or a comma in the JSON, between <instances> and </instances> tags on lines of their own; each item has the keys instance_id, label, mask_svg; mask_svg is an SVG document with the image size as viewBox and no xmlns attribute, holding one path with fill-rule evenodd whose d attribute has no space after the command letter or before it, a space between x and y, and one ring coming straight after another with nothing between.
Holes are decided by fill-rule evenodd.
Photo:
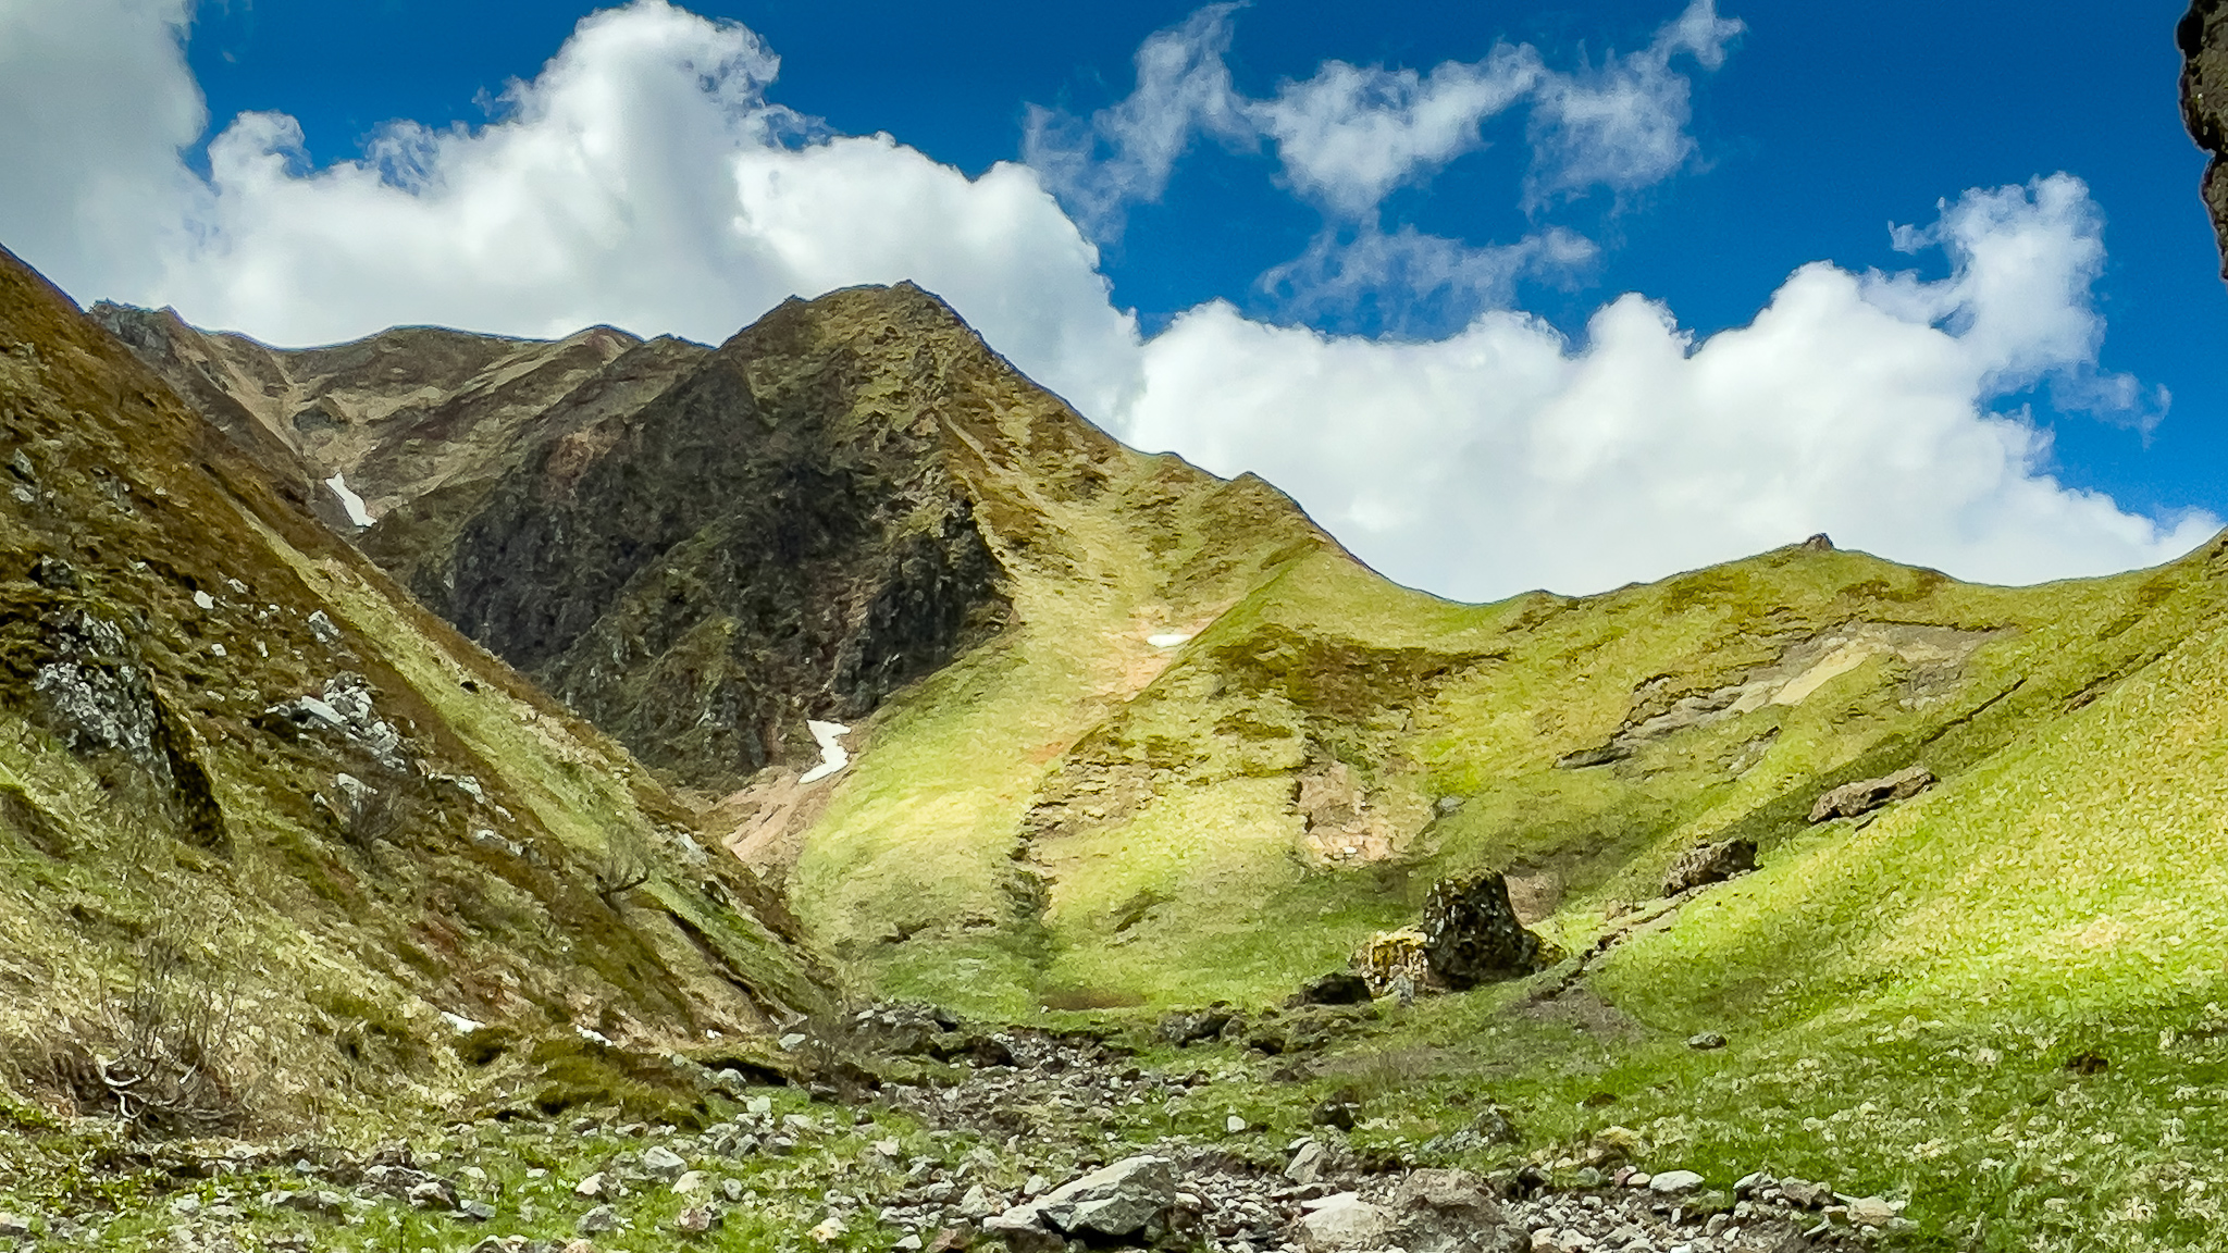
<instances>
[{"instance_id":1,"label":"whole steep brown-green hillside at left, including its grey rock outcrops","mask_svg":"<svg viewBox=\"0 0 2228 1253\"><path fill-rule=\"evenodd\" d=\"M0 466L18 1097L167 1130L548 1110L642 1090L631 1057L769 1052L824 1003L646 771L7 254ZM116 1070L163 1059L198 1084L169 1115Z\"/></svg>"}]
</instances>

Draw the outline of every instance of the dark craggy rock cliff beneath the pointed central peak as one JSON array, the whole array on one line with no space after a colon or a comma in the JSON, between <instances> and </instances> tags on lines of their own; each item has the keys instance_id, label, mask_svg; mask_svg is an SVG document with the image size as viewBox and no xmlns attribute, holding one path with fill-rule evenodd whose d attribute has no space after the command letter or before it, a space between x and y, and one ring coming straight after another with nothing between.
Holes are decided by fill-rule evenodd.
<instances>
[{"instance_id":1,"label":"dark craggy rock cliff beneath the pointed central peak","mask_svg":"<svg viewBox=\"0 0 2228 1253\"><path fill-rule=\"evenodd\" d=\"M918 288L791 301L537 448L414 591L644 760L809 760L1005 615L942 404L1005 370Z\"/></svg>"}]
</instances>

